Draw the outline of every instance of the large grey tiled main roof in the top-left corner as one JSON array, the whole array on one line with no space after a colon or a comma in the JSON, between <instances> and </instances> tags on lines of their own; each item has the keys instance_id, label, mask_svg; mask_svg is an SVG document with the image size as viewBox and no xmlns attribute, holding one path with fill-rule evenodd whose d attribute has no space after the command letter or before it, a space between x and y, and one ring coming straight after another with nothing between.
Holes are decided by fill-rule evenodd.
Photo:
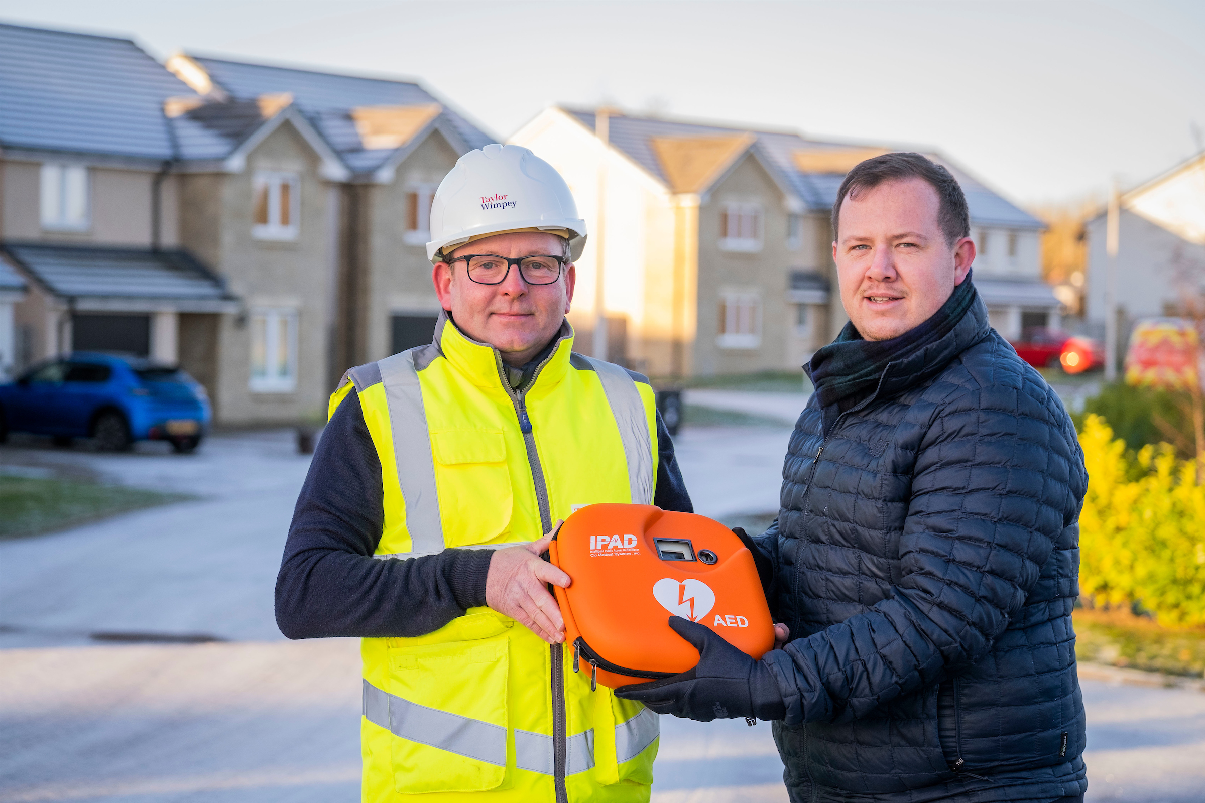
<instances>
[{"instance_id":1,"label":"large grey tiled main roof in the top-left corner","mask_svg":"<svg viewBox=\"0 0 1205 803\"><path fill-rule=\"evenodd\" d=\"M0 146L170 159L192 90L125 39L0 24Z\"/></svg>"}]
</instances>

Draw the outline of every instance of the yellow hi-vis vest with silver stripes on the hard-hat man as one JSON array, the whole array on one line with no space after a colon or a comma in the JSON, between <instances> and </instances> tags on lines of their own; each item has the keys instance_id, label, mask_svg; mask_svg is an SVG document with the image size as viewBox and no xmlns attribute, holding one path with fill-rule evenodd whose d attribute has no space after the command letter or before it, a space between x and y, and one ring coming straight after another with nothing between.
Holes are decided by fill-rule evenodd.
<instances>
[{"instance_id":1,"label":"yellow hi-vis vest with silver stripes on the hard-hat man","mask_svg":"<svg viewBox=\"0 0 1205 803\"><path fill-rule=\"evenodd\" d=\"M530 543L575 507L652 502L652 388L572 342L566 323L521 394L445 315L430 346L347 372L330 411L354 386L381 459L374 557ZM365 638L362 656L368 803L649 797L657 715L592 690L569 644L472 608L427 636Z\"/></svg>"}]
</instances>

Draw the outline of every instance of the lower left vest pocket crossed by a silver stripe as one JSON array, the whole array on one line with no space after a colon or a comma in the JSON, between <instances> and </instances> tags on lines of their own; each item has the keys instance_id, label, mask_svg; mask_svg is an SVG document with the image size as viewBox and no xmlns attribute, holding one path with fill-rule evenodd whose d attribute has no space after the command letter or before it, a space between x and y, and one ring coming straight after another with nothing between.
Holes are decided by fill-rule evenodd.
<instances>
[{"instance_id":1,"label":"lower left vest pocket crossed by a silver stripe","mask_svg":"<svg viewBox=\"0 0 1205 803\"><path fill-rule=\"evenodd\" d=\"M502 784L507 666L506 636L390 651L388 720L399 793Z\"/></svg>"}]
</instances>

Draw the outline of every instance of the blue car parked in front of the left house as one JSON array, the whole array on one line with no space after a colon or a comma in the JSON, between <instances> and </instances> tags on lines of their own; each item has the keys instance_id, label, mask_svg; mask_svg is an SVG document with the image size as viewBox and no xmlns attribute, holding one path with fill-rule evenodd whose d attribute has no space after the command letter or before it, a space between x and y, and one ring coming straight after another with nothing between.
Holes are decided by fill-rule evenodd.
<instances>
[{"instance_id":1,"label":"blue car parked in front of the left house","mask_svg":"<svg viewBox=\"0 0 1205 803\"><path fill-rule=\"evenodd\" d=\"M135 441L170 441L192 451L210 426L210 398L178 367L141 358L76 352L35 365L0 384L0 441L8 432L93 437L104 451Z\"/></svg>"}]
</instances>

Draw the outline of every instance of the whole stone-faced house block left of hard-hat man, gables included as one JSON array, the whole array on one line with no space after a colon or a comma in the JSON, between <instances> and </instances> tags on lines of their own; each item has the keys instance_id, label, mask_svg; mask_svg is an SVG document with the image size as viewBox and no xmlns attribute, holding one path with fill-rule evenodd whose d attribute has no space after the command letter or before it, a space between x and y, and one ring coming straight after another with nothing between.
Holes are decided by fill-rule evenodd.
<instances>
[{"instance_id":1,"label":"whole stone-faced house block left of hard-hat man, gables included","mask_svg":"<svg viewBox=\"0 0 1205 803\"><path fill-rule=\"evenodd\" d=\"M407 315L430 337L430 195L490 138L408 82L166 66L0 25L14 362L129 352L180 362L221 423L317 418L346 367L418 337Z\"/></svg>"}]
</instances>

